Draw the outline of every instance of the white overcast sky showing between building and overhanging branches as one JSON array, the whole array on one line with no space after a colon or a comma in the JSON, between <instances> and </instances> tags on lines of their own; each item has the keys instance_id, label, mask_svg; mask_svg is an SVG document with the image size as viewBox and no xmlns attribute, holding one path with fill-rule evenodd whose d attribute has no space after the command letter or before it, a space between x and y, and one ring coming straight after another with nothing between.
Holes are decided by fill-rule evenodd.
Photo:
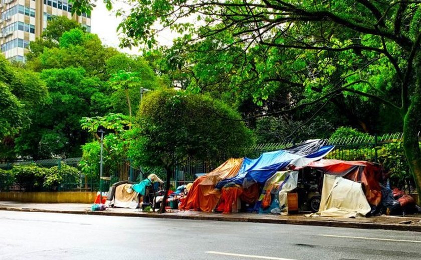
<instances>
[{"instance_id":1,"label":"white overcast sky showing between building and overhanging branches","mask_svg":"<svg viewBox=\"0 0 421 260\"><path fill-rule=\"evenodd\" d=\"M129 9L130 6L124 3L124 1L117 0L114 1L113 10L108 11L107 8L105 8L103 0L97 0L95 4L96 7L94 7L91 15L91 32L98 34L102 42L108 46L116 47L129 54L140 54L138 48L121 49L118 46L120 40L117 33L117 26L120 23L121 18L117 18L113 10L117 10L119 8ZM174 37L175 34L166 30L158 35L157 40L161 45L171 45Z\"/></svg>"}]
</instances>

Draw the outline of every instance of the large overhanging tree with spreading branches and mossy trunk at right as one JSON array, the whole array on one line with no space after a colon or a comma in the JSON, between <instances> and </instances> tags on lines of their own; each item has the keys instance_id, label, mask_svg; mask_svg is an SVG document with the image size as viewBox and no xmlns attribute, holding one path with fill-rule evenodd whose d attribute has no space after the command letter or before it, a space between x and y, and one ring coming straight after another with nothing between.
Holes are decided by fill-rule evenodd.
<instances>
[{"instance_id":1,"label":"large overhanging tree with spreading branches and mossy trunk at right","mask_svg":"<svg viewBox=\"0 0 421 260\"><path fill-rule=\"evenodd\" d=\"M81 3L81 0L75 0ZM84 5L89 4L82 0ZM107 0L109 4L111 1ZM403 147L421 198L421 3L386 0L152 0L138 1L120 25L124 45L156 42L156 22L188 41L231 32L243 51L300 50L306 100L322 103L339 93L371 98L403 121ZM203 19L203 26L192 18ZM218 24L208 26L207 24ZM223 49L224 45L216 46ZM340 77L337 64L345 66ZM289 70L290 74L294 69ZM334 77L334 78L333 78ZM333 79L333 80L332 80ZM394 98L392 93L399 93Z\"/></svg>"}]
</instances>

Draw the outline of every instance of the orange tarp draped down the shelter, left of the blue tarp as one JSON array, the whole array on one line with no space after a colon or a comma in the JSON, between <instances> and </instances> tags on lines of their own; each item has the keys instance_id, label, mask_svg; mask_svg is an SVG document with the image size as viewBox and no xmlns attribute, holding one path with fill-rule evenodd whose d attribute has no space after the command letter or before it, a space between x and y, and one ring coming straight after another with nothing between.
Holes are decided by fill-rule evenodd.
<instances>
[{"instance_id":1,"label":"orange tarp draped down the shelter, left of the blue tarp","mask_svg":"<svg viewBox=\"0 0 421 260\"><path fill-rule=\"evenodd\" d=\"M223 179L237 175L242 163L243 158L231 158L208 174L198 177L194 180L180 209L207 212L214 210L221 197L221 191L215 189L215 185Z\"/></svg>"}]
</instances>

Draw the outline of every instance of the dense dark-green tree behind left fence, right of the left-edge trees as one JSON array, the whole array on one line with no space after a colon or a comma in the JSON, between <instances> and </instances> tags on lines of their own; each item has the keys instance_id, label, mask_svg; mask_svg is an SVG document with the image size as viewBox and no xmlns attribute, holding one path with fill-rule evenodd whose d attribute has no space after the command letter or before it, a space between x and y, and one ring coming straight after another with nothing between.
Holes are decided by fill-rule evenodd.
<instances>
[{"instance_id":1,"label":"dense dark-green tree behind left fence, right of the left-edge trees","mask_svg":"<svg viewBox=\"0 0 421 260\"><path fill-rule=\"evenodd\" d=\"M50 97L46 104L34 109L33 124L17 138L16 149L34 158L80 156L80 145L88 136L80 130L79 120L104 114L110 108L104 82L74 67L44 69L41 78Z\"/></svg>"}]
</instances>

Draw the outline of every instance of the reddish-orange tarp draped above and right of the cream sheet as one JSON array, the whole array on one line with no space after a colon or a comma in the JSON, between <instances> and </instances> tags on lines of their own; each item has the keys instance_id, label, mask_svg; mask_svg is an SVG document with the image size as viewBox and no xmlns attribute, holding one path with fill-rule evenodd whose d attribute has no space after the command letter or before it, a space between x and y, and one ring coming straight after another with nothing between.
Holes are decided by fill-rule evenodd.
<instances>
[{"instance_id":1,"label":"reddish-orange tarp draped above and right of the cream sheet","mask_svg":"<svg viewBox=\"0 0 421 260\"><path fill-rule=\"evenodd\" d=\"M322 159L313 161L307 167L322 170L324 173L341 176L363 184L368 202L377 206L381 201L381 166L368 161L344 161Z\"/></svg>"}]
</instances>

